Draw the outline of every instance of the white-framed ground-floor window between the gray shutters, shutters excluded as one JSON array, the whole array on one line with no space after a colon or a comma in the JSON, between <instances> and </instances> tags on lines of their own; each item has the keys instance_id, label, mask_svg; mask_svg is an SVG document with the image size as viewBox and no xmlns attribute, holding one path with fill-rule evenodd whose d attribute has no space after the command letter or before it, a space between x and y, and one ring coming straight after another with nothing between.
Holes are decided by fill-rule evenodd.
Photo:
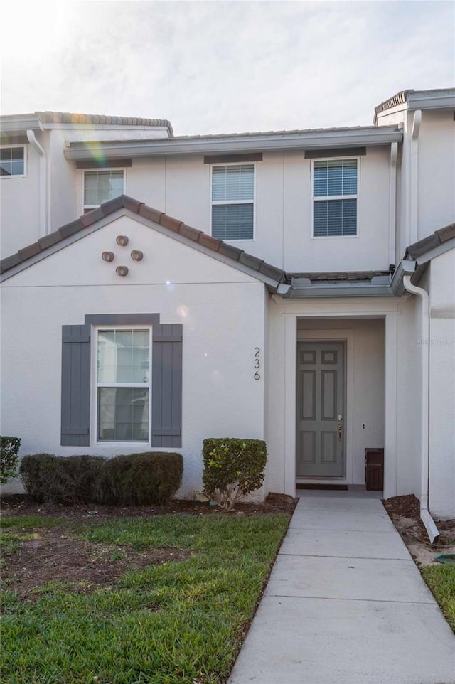
<instances>
[{"instance_id":1,"label":"white-framed ground-floor window between the gray shutters, shutters excluded","mask_svg":"<svg viewBox=\"0 0 455 684\"><path fill-rule=\"evenodd\" d=\"M149 442L151 328L97 328L99 442Z\"/></svg>"}]
</instances>

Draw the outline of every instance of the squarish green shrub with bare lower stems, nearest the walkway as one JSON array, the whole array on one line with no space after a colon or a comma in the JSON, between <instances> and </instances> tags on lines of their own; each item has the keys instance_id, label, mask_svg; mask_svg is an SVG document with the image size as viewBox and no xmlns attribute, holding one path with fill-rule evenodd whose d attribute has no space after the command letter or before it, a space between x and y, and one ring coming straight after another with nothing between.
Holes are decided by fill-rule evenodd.
<instances>
[{"instance_id":1,"label":"squarish green shrub with bare lower stems, nearest the walkway","mask_svg":"<svg viewBox=\"0 0 455 684\"><path fill-rule=\"evenodd\" d=\"M262 486L267 446L262 439L210 437L203 442L204 492L231 511L241 496Z\"/></svg>"}]
</instances>

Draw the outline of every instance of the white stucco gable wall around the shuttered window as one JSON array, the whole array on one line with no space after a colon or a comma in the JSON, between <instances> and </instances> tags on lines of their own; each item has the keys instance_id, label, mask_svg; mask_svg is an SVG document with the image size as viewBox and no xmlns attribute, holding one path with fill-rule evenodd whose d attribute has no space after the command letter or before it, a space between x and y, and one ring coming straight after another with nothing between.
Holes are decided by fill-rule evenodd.
<instances>
[{"instance_id":1,"label":"white stucco gable wall around the shuttered window","mask_svg":"<svg viewBox=\"0 0 455 684\"><path fill-rule=\"evenodd\" d=\"M117 235L129 245L119 247ZM132 249L144 260L133 262ZM104 250L113 263L101 260ZM122 263L126 278L115 274ZM2 286L2 432L21 437L21 455L137 451L125 443L60 447L61 326L82 324L85 314L159 312L161 323L183 323L183 447L167 450L183 454L179 495L193 496L205 437L264 437L264 380L253 378L253 354L264 348L265 297L264 284L228 264L132 218L114 220Z\"/></svg>"}]
</instances>

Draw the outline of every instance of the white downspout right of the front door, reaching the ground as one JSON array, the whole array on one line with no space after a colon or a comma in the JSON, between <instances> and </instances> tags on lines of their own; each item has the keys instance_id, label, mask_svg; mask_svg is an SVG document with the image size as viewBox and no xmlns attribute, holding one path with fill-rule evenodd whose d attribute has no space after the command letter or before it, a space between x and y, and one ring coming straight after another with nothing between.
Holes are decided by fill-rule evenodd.
<instances>
[{"instance_id":1,"label":"white downspout right of the front door, reaching the ground","mask_svg":"<svg viewBox=\"0 0 455 684\"><path fill-rule=\"evenodd\" d=\"M429 503L429 296L422 287L417 287L411 282L411 276L403 277L403 285L407 292L417 294L421 301L421 331L422 346L420 369L422 374L422 408L420 415L420 440L421 440L421 494L420 494L420 519L431 543L439 538L439 530L434 523L428 510Z\"/></svg>"}]
</instances>

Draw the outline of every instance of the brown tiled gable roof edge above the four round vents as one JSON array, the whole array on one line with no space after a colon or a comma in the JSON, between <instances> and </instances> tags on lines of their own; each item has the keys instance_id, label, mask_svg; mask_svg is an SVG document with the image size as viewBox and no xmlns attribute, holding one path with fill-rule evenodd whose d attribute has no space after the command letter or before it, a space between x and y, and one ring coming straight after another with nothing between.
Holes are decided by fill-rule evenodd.
<instances>
[{"instance_id":1,"label":"brown tiled gable roof edge above the four round vents","mask_svg":"<svg viewBox=\"0 0 455 684\"><path fill-rule=\"evenodd\" d=\"M40 237L39 240L33 242L31 245L2 259L0 262L0 274L3 275L10 269L21 267L22 265L25 267L28 265L27 262L29 260L33 260L33 257L44 258L50 255L55 251L52 248L55 247L55 245L58 245L59 242L65 240L65 238L80 233L90 225L97 223L97 221L100 221L121 209L127 209L146 220L159 224L164 228L164 233L167 233L170 237L180 235L181 237L186 238L186 240L193 242L193 245L191 246L196 248L203 247L205 250L216 252L216 254L222 257L228 257L233 262L230 265L240 267L242 270L249 269L250 274L253 277L257 277L259 280L267 282L267 284L272 284L272 287L277 288L280 283L284 282L285 273L282 269L272 266L272 264L268 264L262 259L258 259L258 257L238 249L238 247L228 245L228 243L223 242L223 240L218 240L216 237L207 235L207 233L203 233L202 230L193 228L191 225L187 225L181 220L172 218L163 211L149 207L143 202L139 202L127 195L121 195L105 202L100 205L99 208L82 214L77 220L61 226L61 228L55 230L54 233L49 233L44 237ZM30 261L30 264L31 263L32 261Z\"/></svg>"}]
</instances>

